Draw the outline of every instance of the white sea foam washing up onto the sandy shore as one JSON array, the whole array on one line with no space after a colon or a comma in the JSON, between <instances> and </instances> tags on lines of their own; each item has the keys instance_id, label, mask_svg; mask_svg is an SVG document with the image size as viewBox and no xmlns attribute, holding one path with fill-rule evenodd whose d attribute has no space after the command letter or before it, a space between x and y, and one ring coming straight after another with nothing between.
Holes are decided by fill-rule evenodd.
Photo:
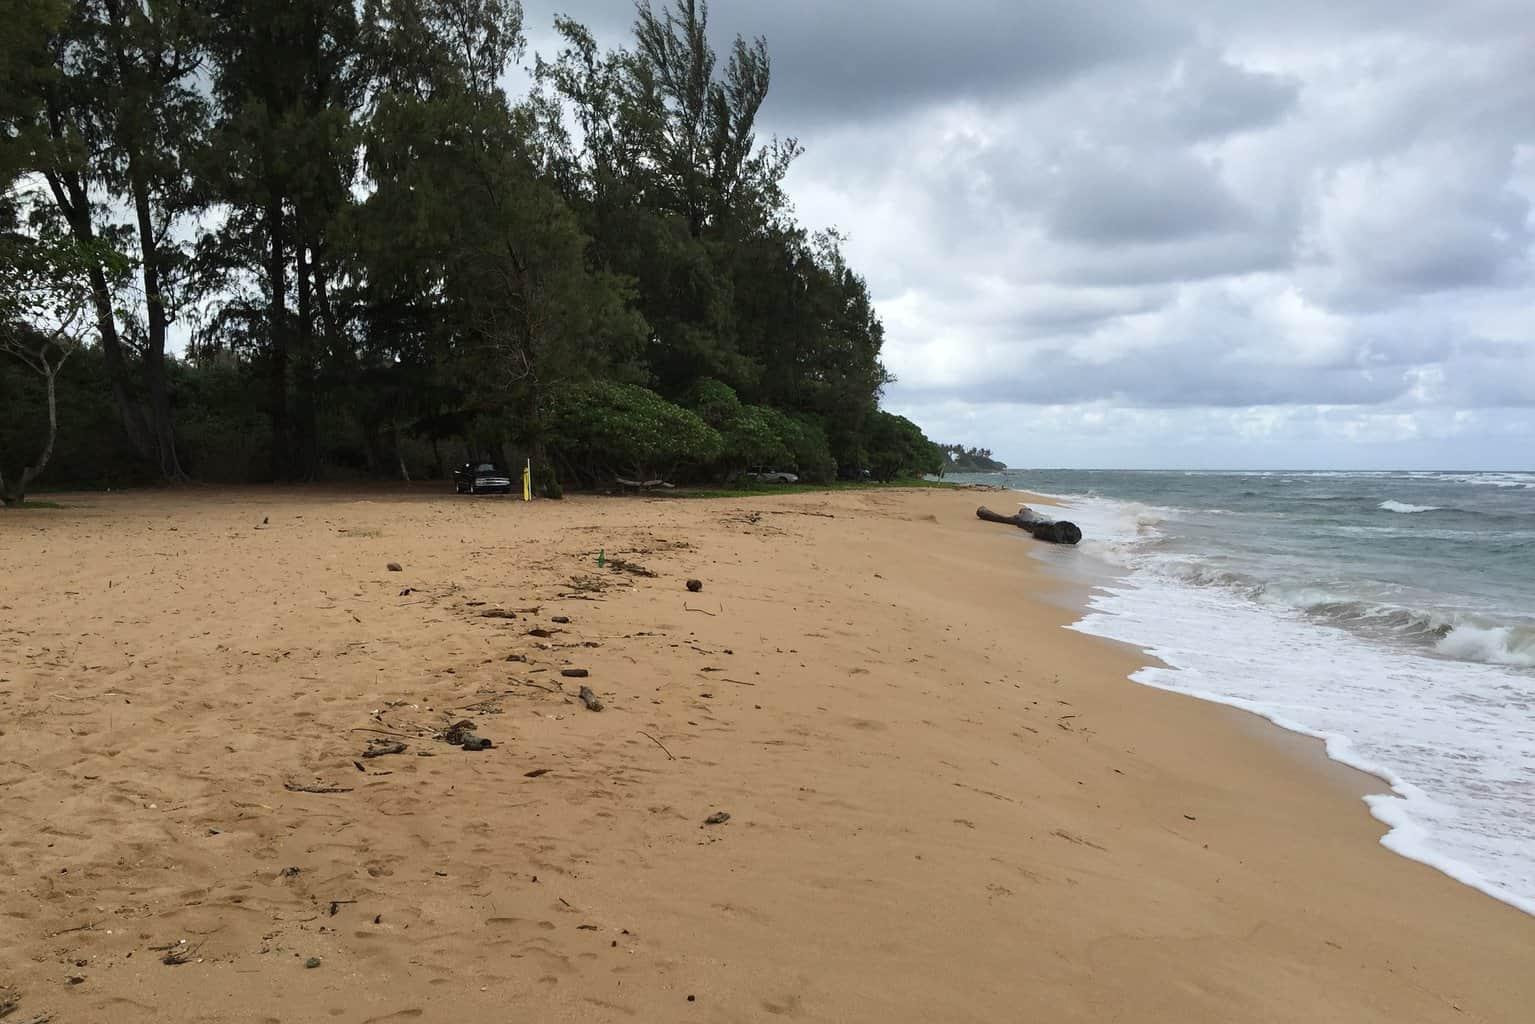
<instances>
[{"instance_id":1,"label":"white sea foam washing up onto the sandy shore","mask_svg":"<svg viewBox=\"0 0 1535 1024\"><path fill-rule=\"evenodd\" d=\"M1145 557L1145 511L1073 500L1082 553L1133 571L1071 628L1167 665L1136 682L1325 740L1329 757L1389 785L1366 797L1391 829L1388 849L1535 915L1535 680L1504 668L1535 663L1535 649L1509 629L1460 623L1438 640L1444 657L1415 654L1320 625L1289 602L1165 576L1148 568L1171 563ZM1291 597L1305 606L1325 594Z\"/></svg>"}]
</instances>

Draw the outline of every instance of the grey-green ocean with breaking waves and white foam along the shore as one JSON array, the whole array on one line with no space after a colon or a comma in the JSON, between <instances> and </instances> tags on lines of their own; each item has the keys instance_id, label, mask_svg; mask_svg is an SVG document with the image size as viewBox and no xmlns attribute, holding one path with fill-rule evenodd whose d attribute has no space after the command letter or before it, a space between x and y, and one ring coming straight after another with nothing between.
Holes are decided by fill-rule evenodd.
<instances>
[{"instance_id":1,"label":"grey-green ocean with breaking waves and white foam along the shore","mask_svg":"<svg viewBox=\"0 0 1535 1024\"><path fill-rule=\"evenodd\" d=\"M1535 913L1535 473L955 479L1068 504L1082 543L1033 550L1113 567L1073 628L1137 682L1323 738L1389 849Z\"/></svg>"}]
</instances>

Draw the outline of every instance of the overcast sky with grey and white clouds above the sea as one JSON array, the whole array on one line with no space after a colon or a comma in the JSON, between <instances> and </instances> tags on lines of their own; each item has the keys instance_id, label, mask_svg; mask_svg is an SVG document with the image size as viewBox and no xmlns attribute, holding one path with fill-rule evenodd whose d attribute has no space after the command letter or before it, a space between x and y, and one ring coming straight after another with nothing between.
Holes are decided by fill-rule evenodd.
<instances>
[{"instance_id":1,"label":"overcast sky with grey and white clouds above the sea","mask_svg":"<svg viewBox=\"0 0 1535 1024\"><path fill-rule=\"evenodd\" d=\"M622 0L527 0L629 45ZM1530 0L717 0L886 407L1018 467L1535 465Z\"/></svg>"}]
</instances>

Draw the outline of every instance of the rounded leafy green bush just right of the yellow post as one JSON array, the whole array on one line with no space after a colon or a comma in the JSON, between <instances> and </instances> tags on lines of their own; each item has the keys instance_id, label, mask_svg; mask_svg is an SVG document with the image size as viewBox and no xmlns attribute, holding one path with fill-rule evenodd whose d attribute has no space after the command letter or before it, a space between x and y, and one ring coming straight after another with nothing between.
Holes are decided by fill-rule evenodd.
<instances>
[{"instance_id":1,"label":"rounded leafy green bush just right of the yellow post","mask_svg":"<svg viewBox=\"0 0 1535 1024\"><path fill-rule=\"evenodd\" d=\"M720 457L718 431L637 384L594 381L553 391L545 444L583 482L671 477Z\"/></svg>"}]
</instances>

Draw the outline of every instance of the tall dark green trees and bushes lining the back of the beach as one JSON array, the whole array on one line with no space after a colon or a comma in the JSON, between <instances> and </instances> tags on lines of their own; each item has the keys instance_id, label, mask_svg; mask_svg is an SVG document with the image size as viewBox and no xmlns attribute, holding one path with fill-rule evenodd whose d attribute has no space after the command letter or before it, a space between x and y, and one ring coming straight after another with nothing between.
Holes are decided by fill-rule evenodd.
<instances>
[{"instance_id":1,"label":"tall dark green trees and bushes lining the back of the beach","mask_svg":"<svg viewBox=\"0 0 1535 1024\"><path fill-rule=\"evenodd\" d=\"M612 49L557 18L531 61L516 0L8 8L12 490L51 422L72 484L942 465L878 407L883 325L794 216L798 144L758 137L766 43L717 51L703 0L640 0Z\"/></svg>"}]
</instances>

